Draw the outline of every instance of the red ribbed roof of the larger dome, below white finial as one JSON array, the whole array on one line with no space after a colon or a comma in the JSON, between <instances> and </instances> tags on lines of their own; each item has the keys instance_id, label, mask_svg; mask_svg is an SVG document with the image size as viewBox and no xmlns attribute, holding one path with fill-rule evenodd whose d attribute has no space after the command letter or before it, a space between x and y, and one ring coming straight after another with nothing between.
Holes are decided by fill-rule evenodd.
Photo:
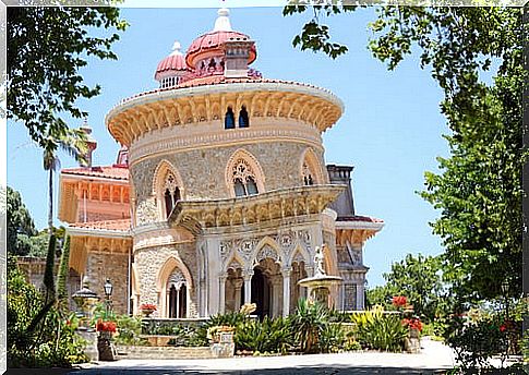
<instances>
[{"instance_id":1,"label":"red ribbed roof of the larger dome, below white finial","mask_svg":"<svg viewBox=\"0 0 529 375\"><path fill-rule=\"evenodd\" d=\"M218 31L218 32L211 32L204 35L201 35L196 39L193 40L191 46L188 48L188 52L185 53L185 62L188 66L194 69L194 58L204 51L209 51L214 49L223 48L223 44L226 40L250 40L250 37L245 34L239 32L227 32L227 31ZM250 57L248 58L248 63L252 63L255 61L257 56L255 45L250 50Z\"/></svg>"}]
</instances>

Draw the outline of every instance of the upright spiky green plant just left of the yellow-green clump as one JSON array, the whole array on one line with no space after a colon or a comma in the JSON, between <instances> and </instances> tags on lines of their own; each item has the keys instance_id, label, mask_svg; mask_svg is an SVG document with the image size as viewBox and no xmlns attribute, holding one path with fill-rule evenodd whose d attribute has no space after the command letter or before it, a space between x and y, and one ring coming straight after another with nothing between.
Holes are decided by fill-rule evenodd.
<instances>
[{"instance_id":1,"label":"upright spiky green plant just left of the yellow-green clump","mask_svg":"<svg viewBox=\"0 0 529 375\"><path fill-rule=\"evenodd\" d=\"M291 315L296 340L304 353L317 350L320 336L328 322L328 310L317 302L304 299L298 301L296 313Z\"/></svg>"}]
</instances>

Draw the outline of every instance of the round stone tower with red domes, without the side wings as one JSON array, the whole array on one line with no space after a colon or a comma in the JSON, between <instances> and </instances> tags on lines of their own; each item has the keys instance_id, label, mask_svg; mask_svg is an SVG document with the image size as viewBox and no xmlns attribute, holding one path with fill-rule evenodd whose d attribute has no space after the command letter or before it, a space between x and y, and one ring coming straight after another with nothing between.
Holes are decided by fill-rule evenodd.
<instances>
[{"instance_id":1,"label":"round stone tower with red domes, without the side wings","mask_svg":"<svg viewBox=\"0 0 529 375\"><path fill-rule=\"evenodd\" d=\"M134 310L208 316L255 302L286 315L326 243L337 275L336 215L322 133L344 106L330 92L264 78L255 43L221 9L185 56L157 66L159 88L122 100L106 124L129 149ZM329 303L335 303L336 291Z\"/></svg>"}]
</instances>

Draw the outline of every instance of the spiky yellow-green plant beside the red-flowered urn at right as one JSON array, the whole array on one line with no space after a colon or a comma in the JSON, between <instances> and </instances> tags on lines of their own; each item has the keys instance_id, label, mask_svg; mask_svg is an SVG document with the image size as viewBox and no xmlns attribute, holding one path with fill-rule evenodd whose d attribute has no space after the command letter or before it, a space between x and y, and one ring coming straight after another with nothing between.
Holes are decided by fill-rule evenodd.
<instances>
[{"instance_id":1,"label":"spiky yellow-green plant beside the red-flowered urn at right","mask_svg":"<svg viewBox=\"0 0 529 375\"><path fill-rule=\"evenodd\" d=\"M408 329L402 325L400 314L384 314L382 309L377 309L353 313L351 320L357 325L354 335L362 347L402 351Z\"/></svg>"}]
</instances>

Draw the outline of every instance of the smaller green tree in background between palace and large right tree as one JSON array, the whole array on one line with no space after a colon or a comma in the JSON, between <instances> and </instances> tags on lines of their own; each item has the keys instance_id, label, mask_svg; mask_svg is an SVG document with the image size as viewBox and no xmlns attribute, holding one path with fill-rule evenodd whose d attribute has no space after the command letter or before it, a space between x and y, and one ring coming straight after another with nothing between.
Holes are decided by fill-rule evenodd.
<instances>
[{"instance_id":1,"label":"smaller green tree in background between palace and large right tree","mask_svg":"<svg viewBox=\"0 0 529 375\"><path fill-rule=\"evenodd\" d=\"M368 292L369 303L390 305L394 295L405 295L419 316L432 322L441 313L445 288L442 280L442 262L438 256L406 255L392 264L392 270L384 274L386 285Z\"/></svg>"}]
</instances>

